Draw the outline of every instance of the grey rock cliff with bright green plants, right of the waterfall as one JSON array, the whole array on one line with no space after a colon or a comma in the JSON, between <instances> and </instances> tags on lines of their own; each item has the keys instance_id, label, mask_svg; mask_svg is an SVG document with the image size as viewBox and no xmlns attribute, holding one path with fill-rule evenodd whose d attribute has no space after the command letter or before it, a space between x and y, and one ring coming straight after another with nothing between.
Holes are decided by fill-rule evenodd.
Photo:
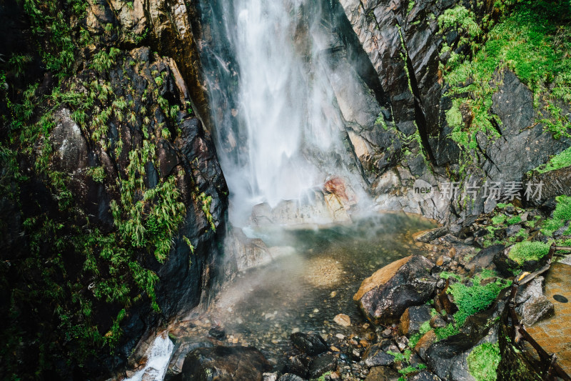
<instances>
[{"instance_id":1,"label":"grey rock cliff with bright green plants, right of the waterfall","mask_svg":"<svg viewBox=\"0 0 571 381\"><path fill-rule=\"evenodd\" d=\"M370 145L358 153L386 209L442 221L489 212L485 182L523 182L523 199L526 173L570 147L568 1L340 4L390 98L383 134L360 137ZM416 179L460 192L419 201Z\"/></svg>"}]
</instances>

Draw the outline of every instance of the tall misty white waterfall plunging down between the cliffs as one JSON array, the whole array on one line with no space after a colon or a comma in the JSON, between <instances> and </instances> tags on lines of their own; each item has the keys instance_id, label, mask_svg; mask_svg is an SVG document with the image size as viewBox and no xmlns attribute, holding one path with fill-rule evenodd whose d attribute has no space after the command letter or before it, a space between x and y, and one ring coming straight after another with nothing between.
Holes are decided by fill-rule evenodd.
<instances>
[{"instance_id":1,"label":"tall misty white waterfall plunging down between the cliffs","mask_svg":"<svg viewBox=\"0 0 571 381\"><path fill-rule=\"evenodd\" d=\"M372 127L381 107L349 62L333 2L201 3L201 60L231 221L261 202L303 199L331 177L366 199L350 132Z\"/></svg>"}]
</instances>

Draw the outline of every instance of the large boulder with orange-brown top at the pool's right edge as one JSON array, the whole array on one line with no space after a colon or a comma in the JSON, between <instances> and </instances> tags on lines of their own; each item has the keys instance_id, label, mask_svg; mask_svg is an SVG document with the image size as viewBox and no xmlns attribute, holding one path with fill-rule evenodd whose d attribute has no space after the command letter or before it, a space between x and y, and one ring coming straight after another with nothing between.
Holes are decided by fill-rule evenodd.
<instances>
[{"instance_id":1,"label":"large boulder with orange-brown top at the pool's right edge","mask_svg":"<svg viewBox=\"0 0 571 381\"><path fill-rule=\"evenodd\" d=\"M433 267L433 262L420 255L400 259L365 279L353 300L370 322L397 322L408 307L422 305L433 295Z\"/></svg>"}]
</instances>

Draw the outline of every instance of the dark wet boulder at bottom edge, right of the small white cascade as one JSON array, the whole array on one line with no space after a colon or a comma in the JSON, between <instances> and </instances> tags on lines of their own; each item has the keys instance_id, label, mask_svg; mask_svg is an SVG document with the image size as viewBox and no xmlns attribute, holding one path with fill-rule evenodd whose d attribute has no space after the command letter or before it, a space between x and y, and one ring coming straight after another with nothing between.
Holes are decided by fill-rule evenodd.
<instances>
[{"instance_id":1,"label":"dark wet boulder at bottom edge, right of the small white cascade","mask_svg":"<svg viewBox=\"0 0 571 381\"><path fill-rule=\"evenodd\" d=\"M266 357L252 347L199 348L186 356L182 381L263 381L270 369Z\"/></svg>"}]
</instances>

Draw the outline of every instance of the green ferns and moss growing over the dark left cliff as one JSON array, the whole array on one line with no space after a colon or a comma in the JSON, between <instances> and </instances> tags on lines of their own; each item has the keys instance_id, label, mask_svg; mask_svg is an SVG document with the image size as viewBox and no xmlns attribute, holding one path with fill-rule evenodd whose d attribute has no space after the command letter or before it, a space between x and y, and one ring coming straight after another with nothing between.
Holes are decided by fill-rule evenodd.
<instances>
[{"instance_id":1,"label":"green ferns and moss growing over the dark left cliff","mask_svg":"<svg viewBox=\"0 0 571 381\"><path fill-rule=\"evenodd\" d=\"M26 77L34 64L30 54L0 61L0 97L6 104L0 112L0 189L16 209L24 210L26 204L21 234L29 244L19 248L29 252L14 254L0 267L0 283L8 293L7 305L1 306L7 321L0 330L0 378L14 380L40 379L45 371L82 366L91 355L113 353L133 306L158 311L158 276L150 268L167 259L186 214L179 174L158 177L152 187L144 181L148 165L158 168L158 139L179 132L180 107L159 93L170 71L151 66L156 79L143 94L128 81L113 83L113 71L146 68L116 46L101 46L101 36L91 36L74 22L84 18L85 2L22 0L21 5L42 69L53 74L54 81L46 87L40 79L13 80ZM117 32L112 25L105 28L106 36ZM89 44L96 45L93 55L81 51ZM76 61L84 63L83 71L74 66ZM104 152L115 163L125 158L126 168L118 174L108 173L101 162L84 172L116 195L111 202L114 229L93 222L71 190L70 174L54 168L51 132L62 107L71 111L93 152ZM118 127L118 137L111 134L111 125ZM137 136L126 139L124 129ZM24 170L27 167L31 170ZM44 189L45 199L20 199L31 181ZM212 198L198 189L190 197L214 229ZM191 258L194 247L187 237L181 238ZM24 363L21 353L28 345L34 353L25 358L33 364Z\"/></svg>"}]
</instances>

